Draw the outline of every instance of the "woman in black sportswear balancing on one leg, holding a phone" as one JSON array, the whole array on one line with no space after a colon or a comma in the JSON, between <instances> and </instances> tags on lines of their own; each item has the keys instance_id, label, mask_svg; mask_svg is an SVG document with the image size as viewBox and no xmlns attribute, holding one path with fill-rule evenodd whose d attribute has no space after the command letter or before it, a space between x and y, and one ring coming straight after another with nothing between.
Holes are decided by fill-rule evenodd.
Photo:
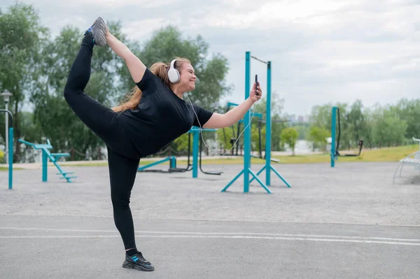
<instances>
[{"instance_id":1,"label":"woman in black sportswear balancing on one leg, holding a phone","mask_svg":"<svg viewBox=\"0 0 420 279\"><path fill-rule=\"evenodd\" d=\"M106 44L125 60L137 85L128 100L113 109L83 92L90 78L93 47ZM129 206L140 158L158 152L192 126L229 127L261 98L260 87L255 94L254 85L249 99L236 108L223 115L212 113L183 100L183 94L195 88L195 80L195 71L188 59L174 59L170 65L155 63L150 70L146 68L109 32L101 17L85 32L71 66L64 98L80 120L106 144L113 217L125 246L125 268L154 270L137 250Z\"/></svg>"}]
</instances>

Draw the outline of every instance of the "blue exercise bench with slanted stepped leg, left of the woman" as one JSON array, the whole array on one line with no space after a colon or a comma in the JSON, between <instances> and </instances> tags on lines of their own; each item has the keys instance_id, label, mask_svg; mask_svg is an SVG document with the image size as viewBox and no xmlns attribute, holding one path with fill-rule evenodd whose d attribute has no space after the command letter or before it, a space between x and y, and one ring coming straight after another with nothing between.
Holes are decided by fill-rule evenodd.
<instances>
[{"instance_id":1,"label":"blue exercise bench with slanted stepped leg, left of the woman","mask_svg":"<svg viewBox=\"0 0 420 279\"><path fill-rule=\"evenodd\" d=\"M50 140L47 138L47 143L29 143L29 141L23 141L22 139L18 139L20 143L25 143L33 147L35 150L42 150L42 181L48 181L48 159L54 164L59 173L57 175L61 175L59 179L65 179L68 183L71 183L71 178L77 178L77 176L69 176L69 174L73 172L65 172L63 171L62 167L58 164L58 159L60 157L70 157L69 153L50 153L50 149L52 149L52 145Z\"/></svg>"}]
</instances>

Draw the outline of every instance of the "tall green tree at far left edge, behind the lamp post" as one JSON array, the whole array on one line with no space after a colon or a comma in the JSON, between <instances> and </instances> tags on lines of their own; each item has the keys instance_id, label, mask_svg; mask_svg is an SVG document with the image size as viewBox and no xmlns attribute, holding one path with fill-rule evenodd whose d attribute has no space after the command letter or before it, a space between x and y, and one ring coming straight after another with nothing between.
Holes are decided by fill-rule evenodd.
<instances>
[{"instance_id":1,"label":"tall green tree at far left edge, behind the lamp post","mask_svg":"<svg viewBox=\"0 0 420 279\"><path fill-rule=\"evenodd\" d=\"M15 139L22 136L21 112L25 101L41 76L41 49L47 29L41 26L31 5L15 3L5 13L0 10L0 90L13 96L9 102ZM1 100L3 103L3 100ZM4 117L4 116L3 116ZM15 141L15 161L20 159L20 144Z\"/></svg>"}]
</instances>

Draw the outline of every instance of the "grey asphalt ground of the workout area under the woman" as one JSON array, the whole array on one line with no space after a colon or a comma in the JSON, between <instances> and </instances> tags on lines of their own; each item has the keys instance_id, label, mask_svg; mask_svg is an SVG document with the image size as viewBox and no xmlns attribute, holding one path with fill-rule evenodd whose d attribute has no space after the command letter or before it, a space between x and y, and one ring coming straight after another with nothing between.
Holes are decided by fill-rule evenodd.
<instances>
[{"instance_id":1,"label":"grey asphalt ground of the workout area under the woman","mask_svg":"<svg viewBox=\"0 0 420 279\"><path fill-rule=\"evenodd\" d=\"M65 166L75 183L17 170L13 190L3 171L0 278L420 278L420 175L406 166L393 184L397 165L274 164L291 187L272 173L272 194L244 194L241 178L222 193L238 165L138 173L131 208L150 273L121 267L107 167Z\"/></svg>"}]
</instances>

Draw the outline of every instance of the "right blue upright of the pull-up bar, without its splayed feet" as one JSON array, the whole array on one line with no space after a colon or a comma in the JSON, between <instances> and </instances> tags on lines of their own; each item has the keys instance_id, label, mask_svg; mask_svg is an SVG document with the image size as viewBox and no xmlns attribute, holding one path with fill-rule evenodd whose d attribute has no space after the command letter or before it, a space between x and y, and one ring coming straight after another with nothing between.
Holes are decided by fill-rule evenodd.
<instances>
[{"instance_id":1,"label":"right blue upright of the pull-up bar, without its splayed feet","mask_svg":"<svg viewBox=\"0 0 420 279\"><path fill-rule=\"evenodd\" d=\"M271 62L267 62L267 108L265 111L265 185L271 184Z\"/></svg>"}]
</instances>

